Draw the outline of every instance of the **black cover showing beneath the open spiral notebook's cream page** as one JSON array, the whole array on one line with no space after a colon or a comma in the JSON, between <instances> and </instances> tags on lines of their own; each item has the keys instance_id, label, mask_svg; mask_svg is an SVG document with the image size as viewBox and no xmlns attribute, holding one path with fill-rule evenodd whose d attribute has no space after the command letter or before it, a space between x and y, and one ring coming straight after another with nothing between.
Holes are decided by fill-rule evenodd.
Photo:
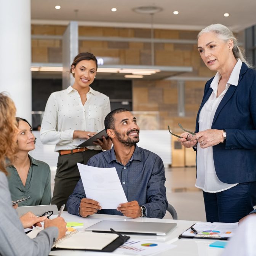
<instances>
[{"instance_id":1,"label":"black cover showing beneath the open spiral notebook's cream page","mask_svg":"<svg viewBox=\"0 0 256 256\"><path fill-rule=\"evenodd\" d=\"M92 249L81 249L81 248L51 248L51 251L59 251L59 250L80 250L80 251L102 251L106 253L111 253L115 249L117 249L120 245L123 245L128 239L130 239L129 236L122 235L115 231L114 229L110 229L112 233L117 234L118 237L111 243L109 243L107 246L105 246L102 250L92 250Z\"/></svg>"}]
</instances>

